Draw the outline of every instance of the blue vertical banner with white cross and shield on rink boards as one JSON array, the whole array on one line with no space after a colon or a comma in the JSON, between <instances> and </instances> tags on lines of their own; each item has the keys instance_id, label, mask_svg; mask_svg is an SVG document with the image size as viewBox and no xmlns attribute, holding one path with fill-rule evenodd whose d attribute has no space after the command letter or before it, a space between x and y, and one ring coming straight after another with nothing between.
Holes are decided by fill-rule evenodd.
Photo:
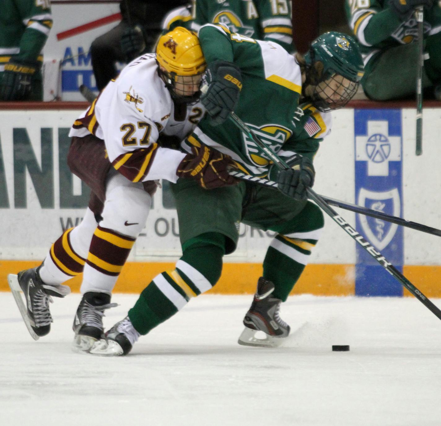
<instances>
[{"instance_id":1,"label":"blue vertical banner with white cross and shield on rink boards","mask_svg":"<svg viewBox=\"0 0 441 426\"><path fill-rule=\"evenodd\" d=\"M401 110L355 110L355 200L393 216L402 211ZM356 216L356 230L402 269L403 231L385 220ZM357 246L355 294L399 296L403 288Z\"/></svg>"}]
</instances>

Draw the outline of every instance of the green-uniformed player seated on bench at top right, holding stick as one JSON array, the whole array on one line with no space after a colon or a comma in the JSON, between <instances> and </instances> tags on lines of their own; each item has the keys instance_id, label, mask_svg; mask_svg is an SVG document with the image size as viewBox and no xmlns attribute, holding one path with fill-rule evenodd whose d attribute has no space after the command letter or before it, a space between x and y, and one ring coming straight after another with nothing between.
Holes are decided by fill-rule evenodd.
<instances>
[{"instance_id":1,"label":"green-uniformed player seated on bench at top right, holding stick","mask_svg":"<svg viewBox=\"0 0 441 426\"><path fill-rule=\"evenodd\" d=\"M400 99L415 94L418 31L415 8L424 6L423 88L441 99L441 7L433 0L346 0L349 26L363 55L361 81L370 99Z\"/></svg>"}]
</instances>

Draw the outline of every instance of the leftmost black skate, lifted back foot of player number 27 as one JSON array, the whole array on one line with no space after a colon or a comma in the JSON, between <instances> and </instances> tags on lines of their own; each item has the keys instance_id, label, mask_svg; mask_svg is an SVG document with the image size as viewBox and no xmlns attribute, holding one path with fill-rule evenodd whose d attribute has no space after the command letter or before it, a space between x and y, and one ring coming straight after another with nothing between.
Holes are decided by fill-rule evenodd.
<instances>
[{"instance_id":1,"label":"leftmost black skate, lifted back foot of player number 27","mask_svg":"<svg viewBox=\"0 0 441 426\"><path fill-rule=\"evenodd\" d=\"M68 286L45 284L38 273L40 267L26 269L18 275L10 274L7 282L11 288L23 321L34 340L49 334L53 322L49 302L53 297L64 297L71 292ZM20 292L24 293L25 302Z\"/></svg>"}]
</instances>

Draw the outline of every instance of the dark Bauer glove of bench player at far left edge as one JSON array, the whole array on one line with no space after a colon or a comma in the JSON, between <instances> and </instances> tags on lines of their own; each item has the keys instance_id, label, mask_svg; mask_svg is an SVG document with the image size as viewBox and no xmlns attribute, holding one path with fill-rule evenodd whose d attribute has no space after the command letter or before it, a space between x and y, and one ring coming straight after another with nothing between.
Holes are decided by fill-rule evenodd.
<instances>
[{"instance_id":1,"label":"dark Bauer glove of bench player at far left edge","mask_svg":"<svg viewBox=\"0 0 441 426\"><path fill-rule=\"evenodd\" d=\"M0 83L0 100L22 101L29 99L32 90L32 76L39 68L36 61L10 59L4 66Z\"/></svg>"}]
</instances>

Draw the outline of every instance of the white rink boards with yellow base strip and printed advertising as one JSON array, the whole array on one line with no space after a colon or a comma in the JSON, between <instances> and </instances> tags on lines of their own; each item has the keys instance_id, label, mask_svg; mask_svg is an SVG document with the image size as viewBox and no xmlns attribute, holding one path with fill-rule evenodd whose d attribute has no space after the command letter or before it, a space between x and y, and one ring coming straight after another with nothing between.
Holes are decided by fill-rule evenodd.
<instances>
[{"instance_id":1,"label":"white rink boards with yellow base strip and printed advertising","mask_svg":"<svg viewBox=\"0 0 441 426\"><path fill-rule=\"evenodd\" d=\"M441 228L437 106L426 103L419 157L413 103L354 101L334 112L332 132L314 160L315 191ZM52 242L82 220L89 190L70 173L66 154L71 124L86 107L75 102L0 104L0 290L7 290L7 273L39 264ZM424 294L441 296L440 237L336 210ZM243 225L239 231L238 248L224 258L213 292L254 292L273 235ZM173 268L180 254L176 210L163 182L116 291L142 290L154 275ZM78 291L78 277L71 286ZM402 295L403 288L325 215L322 238L294 292Z\"/></svg>"}]
</instances>

